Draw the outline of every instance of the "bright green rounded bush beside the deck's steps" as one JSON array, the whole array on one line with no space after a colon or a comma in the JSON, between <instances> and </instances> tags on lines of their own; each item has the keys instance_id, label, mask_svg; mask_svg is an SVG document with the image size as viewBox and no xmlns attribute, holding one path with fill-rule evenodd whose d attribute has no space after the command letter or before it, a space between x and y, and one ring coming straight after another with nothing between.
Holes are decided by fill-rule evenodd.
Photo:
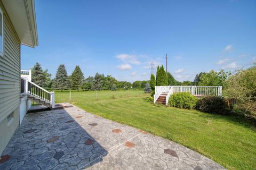
<instances>
[{"instance_id":1,"label":"bright green rounded bush beside the deck's steps","mask_svg":"<svg viewBox=\"0 0 256 170\"><path fill-rule=\"evenodd\" d=\"M196 97L191 95L190 92L180 92L170 96L169 105L173 107L191 109L195 107L196 100Z\"/></svg>"}]
</instances>

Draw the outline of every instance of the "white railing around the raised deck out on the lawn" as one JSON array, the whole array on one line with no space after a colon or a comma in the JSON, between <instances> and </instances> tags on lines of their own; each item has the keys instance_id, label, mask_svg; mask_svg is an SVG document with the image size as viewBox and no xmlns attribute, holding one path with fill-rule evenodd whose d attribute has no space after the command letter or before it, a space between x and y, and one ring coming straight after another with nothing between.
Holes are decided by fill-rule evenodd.
<instances>
[{"instance_id":1,"label":"white railing around the raised deck out on the lawn","mask_svg":"<svg viewBox=\"0 0 256 170\"><path fill-rule=\"evenodd\" d=\"M169 97L179 92L190 92L191 95L196 97L222 96L222 86L156 86L155 89L154 103L156 103L161 94L167 94L166 105L168 104Z\"/></svg>"}]
</instances>

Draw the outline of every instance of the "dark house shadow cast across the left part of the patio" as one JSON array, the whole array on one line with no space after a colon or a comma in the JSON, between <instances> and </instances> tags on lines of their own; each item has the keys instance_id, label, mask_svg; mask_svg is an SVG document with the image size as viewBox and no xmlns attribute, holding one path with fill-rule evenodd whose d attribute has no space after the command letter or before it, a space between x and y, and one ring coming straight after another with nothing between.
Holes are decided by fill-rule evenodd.
<instances>
[{"instance_id":1,"label":"dark house shadow cast across the left part of the patio","mask_svg":"<svg viewBox=\"0 0 256 170\"><path fill-rule=\"evenodd\" d=\"M97 123L86 126L93 129ZM101 162L107 150L65 109L59 109L27 114L4 155L8 160L0 169L78 169Z\"/></svg>"}]
</instances>

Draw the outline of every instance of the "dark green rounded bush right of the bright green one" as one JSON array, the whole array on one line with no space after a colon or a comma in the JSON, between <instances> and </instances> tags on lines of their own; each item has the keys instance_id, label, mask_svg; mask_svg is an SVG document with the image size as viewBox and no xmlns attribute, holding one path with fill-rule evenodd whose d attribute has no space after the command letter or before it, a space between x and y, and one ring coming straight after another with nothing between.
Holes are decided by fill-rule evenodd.
<instances>
[{"instance_id":1,"label":"dark green rounded bush right of the bright green one","mask_svg":"<svg viewBox=\"0 0 256 170\"><path fill-rule=\"evenodd\" d=\"M230 108L225 100L217 96L206 96L197 100L196 107L197 110L207 113L216 114L229 114Z\"/></svg>"}]
</instances>

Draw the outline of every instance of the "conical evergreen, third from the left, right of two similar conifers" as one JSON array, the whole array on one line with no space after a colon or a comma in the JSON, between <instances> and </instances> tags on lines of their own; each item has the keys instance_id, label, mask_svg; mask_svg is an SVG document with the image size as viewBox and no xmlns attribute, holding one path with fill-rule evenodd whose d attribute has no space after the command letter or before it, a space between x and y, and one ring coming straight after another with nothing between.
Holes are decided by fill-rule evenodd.
<instances>
[{"instance_id":1,"label":"conical evergreen, third from the left, right of two similar conifers","mask_svg":"<svg viewBox=\"0 0 256 170\"><path fill-rule=\"evenodd\" d=\"M75 67L75 70L71 74L71 80L70 80L71 88L79 91L79 87L82 87L83 80L84 80L84 74L80 69L79 65L77 65Z\"/></svg>"}]
</instances>

